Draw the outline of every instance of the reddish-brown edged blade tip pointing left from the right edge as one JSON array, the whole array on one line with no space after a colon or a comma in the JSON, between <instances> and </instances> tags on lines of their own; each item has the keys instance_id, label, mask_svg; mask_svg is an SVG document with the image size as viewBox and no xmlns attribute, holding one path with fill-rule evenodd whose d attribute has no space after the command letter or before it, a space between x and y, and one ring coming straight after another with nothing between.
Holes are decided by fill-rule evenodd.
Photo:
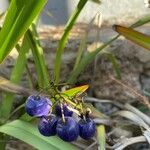
<instances>
[{"instance_id":1,"label":"reddish-brown edged blade tip pointing left from the right edge","mask_svg":"<svg viewBox=\"0 0 150 150\"><path fill-rule=\"evenodd\" d=\"M128 40L150 50L150 36L135 31L134 29L114 25L114 30L123 35Z\"/></svg>"}]
</instances>

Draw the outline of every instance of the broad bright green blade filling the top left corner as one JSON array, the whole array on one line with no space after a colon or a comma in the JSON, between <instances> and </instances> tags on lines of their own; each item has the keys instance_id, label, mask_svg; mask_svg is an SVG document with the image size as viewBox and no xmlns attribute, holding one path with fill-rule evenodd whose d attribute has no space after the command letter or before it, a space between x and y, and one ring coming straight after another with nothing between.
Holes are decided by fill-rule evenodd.
<instances>
[{"instance_id":1,"label":"broad bright green blade filling the top left corner","mask_svg":"<svg viewBox=\"0 0 150 150\"><path fill-rule=\"evenodd\" d=\"M0 31L0 63L44 7L46 0L12 0Z\"/></svg>"}]
</instances>

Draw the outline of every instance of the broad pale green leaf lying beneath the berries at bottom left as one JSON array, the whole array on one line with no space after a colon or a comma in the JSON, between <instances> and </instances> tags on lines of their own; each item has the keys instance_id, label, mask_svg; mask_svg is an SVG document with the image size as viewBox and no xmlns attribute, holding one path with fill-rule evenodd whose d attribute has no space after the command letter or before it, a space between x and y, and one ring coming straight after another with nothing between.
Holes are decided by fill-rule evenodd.
<instances>
[{"instance_id":1,"label":"broad pale green leaf lying beneath the berries at bottom left","mask_svg":"<svg viewBox=\"0 0 150 150\"><path fill-rule=\"evenodd\" d=\"M18 138L39 150L75 150L75 146L64 142L57 136L44 137L37 127L28 122L16 120L0 126L0 132Z\"/></svg>"}]
</instances>

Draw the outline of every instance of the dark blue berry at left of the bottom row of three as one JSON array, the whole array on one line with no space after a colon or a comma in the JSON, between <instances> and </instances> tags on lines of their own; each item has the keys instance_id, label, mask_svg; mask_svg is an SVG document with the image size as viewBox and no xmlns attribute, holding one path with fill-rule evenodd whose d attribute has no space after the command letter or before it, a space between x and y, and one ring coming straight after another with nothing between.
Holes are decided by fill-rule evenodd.
<instances>
[{"instance_id":1,"label":"dark blue berry at left of the bottom row of three","mask_svg":"<svg viewBox=\"0 0 150 150\"><path fill-rule=\"evenodd\" d=\"M57 118L55 116L50 117L51 118L41 118L38 124L39 132L44 136L56 135Z\"/></svg>"}]
</instances>

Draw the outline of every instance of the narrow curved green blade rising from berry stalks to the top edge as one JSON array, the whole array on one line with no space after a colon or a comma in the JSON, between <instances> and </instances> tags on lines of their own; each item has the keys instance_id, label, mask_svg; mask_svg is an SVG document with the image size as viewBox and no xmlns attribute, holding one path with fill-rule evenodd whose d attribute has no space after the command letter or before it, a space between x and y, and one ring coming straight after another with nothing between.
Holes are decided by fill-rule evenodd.
<instances>
[{"instance_id":1,"label":"narrow curved green blade rising from berry stalks to the top edge","mask_svg":"<svg viewBox=\"0 0 150 150\"><path fill-rule=\"evenodd\" d=\"M55 58L55 62L54 62L54 77L55 77L56 84L58 84L58 82L59 82L61 57L62 57L62 54L64 51L64 47L66 45L69 33L70 33L73 25L75 24L75 21L77 20L77 17L79 16L81 10L83 9L83 7L85 6L87 1L88 0L80 0L79 1L77 7L75 8L75 11L73 12L71 18L69 19L69 21L65 27L62 38L58 44L58 48L57 48L57 52L56 52L56 58Z\"/></svg>"}]
</instances>

